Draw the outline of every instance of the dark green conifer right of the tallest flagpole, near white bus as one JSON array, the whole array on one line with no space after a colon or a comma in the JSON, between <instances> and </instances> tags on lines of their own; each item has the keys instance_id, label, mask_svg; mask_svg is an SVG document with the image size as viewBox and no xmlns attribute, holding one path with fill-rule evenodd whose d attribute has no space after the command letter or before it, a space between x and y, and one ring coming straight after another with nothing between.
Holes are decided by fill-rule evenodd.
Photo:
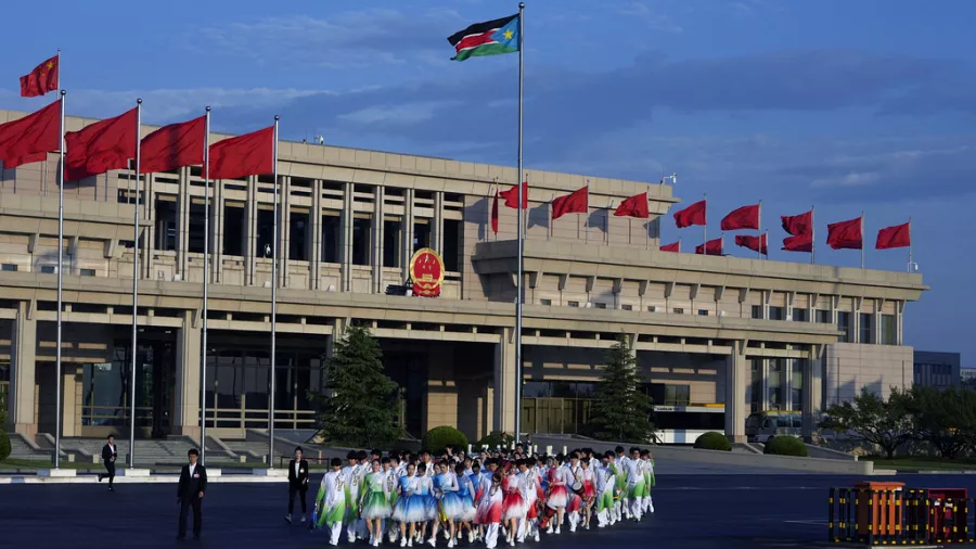
<instances>
[{"instance_id":1,"label":"dark green conifer right of the tallest flagpole, near white bus","mask_svg":"<svg viewBox=\"0 0 976 549\"><path fill-rule=\"evenodd\" d=\"M651 397L641 391L643 378L633 350L622 341L606 355L603 379L590 407L590 430L603 441L643 444L654 436Z\"/></svg>"}]
</instances>

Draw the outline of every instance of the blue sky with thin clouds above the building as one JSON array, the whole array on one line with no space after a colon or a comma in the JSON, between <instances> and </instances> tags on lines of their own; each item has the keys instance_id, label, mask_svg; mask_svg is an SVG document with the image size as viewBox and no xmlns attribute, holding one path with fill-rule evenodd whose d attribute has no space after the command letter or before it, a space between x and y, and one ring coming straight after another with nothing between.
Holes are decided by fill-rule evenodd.
<instances>
[{"instance_id":1,"label":"blue sky with thin clouds above the building","mask_svg":"<svg viewBox=\"0 0 976 549\"><path fill-rule=\"evenodd\" d=\"M708 192L709 234L761 199L781 260L809 256L779 251L779 215L816 205L818 263L839 266L860 256L826 248L827 222L863 209L873 244L911 216L933 290L909 306L907 342L976 367L976 2L527 3L528 168L678 173L685 204ZM210 104L216 130L281 114L284 138L512 165L517 58L451 62L446 38L516 5L14 2L5 18L23 24L0 35L0 107L48 101L20 99L16 77L61 47L72 114L114 115L142 97L144 119L159 124ZM663 232L701 234L670 222ZM906 263L904 251L868 251L870 268Z\"/></svg>"}]
</instances>

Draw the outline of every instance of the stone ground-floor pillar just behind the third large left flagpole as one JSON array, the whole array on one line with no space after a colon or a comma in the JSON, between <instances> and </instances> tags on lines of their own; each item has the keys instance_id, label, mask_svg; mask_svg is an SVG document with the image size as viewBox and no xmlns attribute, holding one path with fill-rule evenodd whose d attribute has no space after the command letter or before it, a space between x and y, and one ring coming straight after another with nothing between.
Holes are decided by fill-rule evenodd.
<instances>
[{"instance_id":1,"label":"stone ground-floor pillar just behind the third large left flagpole","mask_svg":"<svg viewBox=\"0 0 976 549\"><path fill-rule=\"evenodd\" d=\"M183 325L177 334L172 434L198 439L201 324L197 317L195 311L184 311Z\"/></svg>"}]
</instances>

